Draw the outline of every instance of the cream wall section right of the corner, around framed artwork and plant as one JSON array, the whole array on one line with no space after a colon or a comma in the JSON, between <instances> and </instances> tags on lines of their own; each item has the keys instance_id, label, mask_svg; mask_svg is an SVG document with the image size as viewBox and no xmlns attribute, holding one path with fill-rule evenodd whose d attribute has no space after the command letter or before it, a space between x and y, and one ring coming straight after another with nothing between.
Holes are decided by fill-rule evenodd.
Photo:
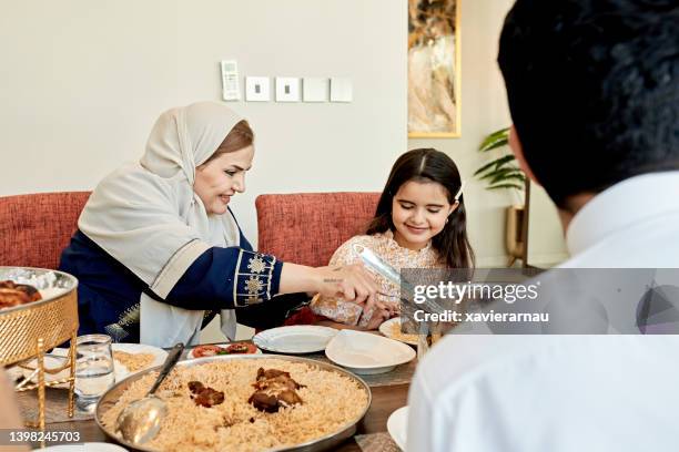
<instances>
[{"instance_id":1,"label":"cream wall section right of the corner, around framed artwork and plant","mask_svg":"<svg viewBox=\"0 0 679 452\"><path fill-rule=\"evenodd\" d=\"M505 86L497 68L497 43L514 0L462 0L462 137L408 140L408 148L436 147L460 170L468 210L468 232L483 267L504 266L505 207L518 201L505 192L488 192L473 178L488 158L476 150L491 132L511 123ZM530 205L529 261L553 265L567 257L556 209L544 189L534 185Z\"/></svg>"}]
</instances>

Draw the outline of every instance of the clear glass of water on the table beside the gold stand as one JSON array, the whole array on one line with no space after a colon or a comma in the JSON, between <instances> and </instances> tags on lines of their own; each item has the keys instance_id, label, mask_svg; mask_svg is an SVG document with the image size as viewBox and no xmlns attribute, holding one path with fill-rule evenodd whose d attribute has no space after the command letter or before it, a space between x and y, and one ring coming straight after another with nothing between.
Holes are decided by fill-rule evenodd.
<instances>
[{"instance_id":1,"label":"clear glass of water on the table beside the gold stand","mask_svg":"<svg viewBox=\"0 0 679 452\"><path fill-rule=\"evenodd\" d=\"M92 412L99 398L115 381L111 337L80 336L75 343L75 405L81 411Z\"/></svg>"}]
</instances>

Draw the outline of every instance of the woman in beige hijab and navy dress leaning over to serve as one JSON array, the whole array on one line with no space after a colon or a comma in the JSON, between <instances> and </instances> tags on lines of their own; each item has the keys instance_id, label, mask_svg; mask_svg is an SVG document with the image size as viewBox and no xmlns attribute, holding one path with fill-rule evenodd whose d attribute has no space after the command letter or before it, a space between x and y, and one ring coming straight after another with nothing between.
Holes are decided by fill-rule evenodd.
<instances>
[{"instance_id":1,"label":"woman in beige hijab and navy dress leaning over to serve","mask_svg":"<svg viewBox=\"0 0 679 452\"><path fill-rule=\"evenodd\" d=\"M270 300L259 309L266 316L281 294L375 302L361 266L312 268L252 250L229 202L245 191L253 154L247 122L224 105L160 116L141 161L97 186L61 256L79 279L80 335L169 347L195 343L216 312L234 339L234 308Z\"/></svg>"}]
</instances>

